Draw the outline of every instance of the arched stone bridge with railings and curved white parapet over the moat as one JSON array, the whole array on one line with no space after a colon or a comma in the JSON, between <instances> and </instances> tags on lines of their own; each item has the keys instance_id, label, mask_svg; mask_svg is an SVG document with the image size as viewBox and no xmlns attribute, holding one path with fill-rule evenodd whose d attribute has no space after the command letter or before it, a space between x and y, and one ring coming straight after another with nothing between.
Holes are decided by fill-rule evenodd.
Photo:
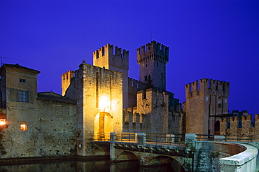
<instances>
[{"instance_id":1,"label":"arched stone bridge with railings and curved white parapet over the moat","mask_svg":"<svg viewBox=\"0 0 259 172\"><path fill-rule=\"evenodd\" d=\"M186 134L183 142L174 143L174 137L167 134L165 139L146 140L146 134L139 133L125 139L111 133L111 162L173 163L177 171L255 171L258 150L251 145L226 143L217 137L215 141L198 141L197 134Z\"/></svg>"}]
</instances>

